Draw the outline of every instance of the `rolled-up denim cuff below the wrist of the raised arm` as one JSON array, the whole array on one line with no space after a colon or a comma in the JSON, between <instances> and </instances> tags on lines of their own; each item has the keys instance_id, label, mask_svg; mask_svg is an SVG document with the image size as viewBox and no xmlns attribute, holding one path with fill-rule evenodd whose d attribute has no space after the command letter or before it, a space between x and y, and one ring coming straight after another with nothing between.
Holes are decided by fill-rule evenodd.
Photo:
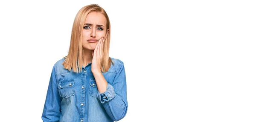
<instances>
[{"instance_id":1,"label":"rolled-up denim cuff below the wrist of the raised arm","mask_svg":"<svg viewBox=\"0 0 256 122\"><path fill-rule=\"evenodd\" d=\"M105 102L110 101L111 99L113 99L116 96L116 93L114 91L114 88L111 84L108 83L107 85L107 90L104 93L97 93L97 98L99 99L99 101L103 104Z\"/></svg>"}]
</instances>

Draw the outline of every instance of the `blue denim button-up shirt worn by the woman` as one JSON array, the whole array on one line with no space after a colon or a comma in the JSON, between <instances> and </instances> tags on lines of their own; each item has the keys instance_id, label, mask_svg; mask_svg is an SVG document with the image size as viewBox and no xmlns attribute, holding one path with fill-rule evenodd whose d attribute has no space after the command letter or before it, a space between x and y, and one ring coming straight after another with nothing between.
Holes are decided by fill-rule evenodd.
<instances>
[{"instance_id":1,"label":"blue denim button-up shirt worn by the woman","mask_svg":"<svg viewBox=\"0 0 256 122\"><path fill-rule=\"evenodd\" d=\"M125 67L111 58L114 65L103 74L107 90L99 93L91 72L91 62L82 72L64 69L57 61L49 80L42 119L44 122L113 122L125 117L128 108Z\"/></svg>"}]
</instances>

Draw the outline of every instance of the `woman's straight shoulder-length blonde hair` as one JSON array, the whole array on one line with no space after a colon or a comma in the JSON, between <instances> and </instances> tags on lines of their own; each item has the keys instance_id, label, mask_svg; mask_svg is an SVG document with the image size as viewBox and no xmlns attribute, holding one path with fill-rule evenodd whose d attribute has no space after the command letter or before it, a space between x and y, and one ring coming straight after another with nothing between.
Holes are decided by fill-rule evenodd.
<instances>
[{"instance_id":1,"label":"woman's straight shoulder-length blonde hair","mask_svg":"<svg viewBox=\"0 0 256 122\"><path fill-rule=\"evenodd\" d=\"M68 52L68 55L64 57L66 59L63 61L62 65L64 66L65 69L69 71L73 69L73 71L76 73L81 72L82 62L83 62L82 31L83 31L85 19L90 12L100 12L107 19L106 31L108 30L108 36L105 39L105 44L103 47L101 70L103 73L108 72L108 69L111 67L111 62L112 64L114 64L111 58L109 57L110 34L111 34L110 21L105 10L102 7L100 7L98 4L91 4L91 5L84 6L77 13L73 23L69 52Z\"/></svg>"}]
</instances>

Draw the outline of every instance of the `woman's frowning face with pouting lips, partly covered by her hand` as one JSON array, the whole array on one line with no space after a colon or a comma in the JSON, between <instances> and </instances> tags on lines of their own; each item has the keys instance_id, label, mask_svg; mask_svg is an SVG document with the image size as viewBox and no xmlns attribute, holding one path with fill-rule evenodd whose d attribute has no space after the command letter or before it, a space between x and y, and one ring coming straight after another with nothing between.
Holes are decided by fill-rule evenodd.
<instances>
[{"instance_id":1,"label":"woman's frowning face with pouting lips, partly covered by her hand","mask_svg":"<svg viewBox=\"0 0 256 122\"><path fill-rule=\"evenodd\" d=\"M107 19L99 12L90 12L84 23L82 32L82 46L84 49L94 50L96 44L98 44L100 38L107 37ZM89 41L94 42L89 42Z\"/></svg>"}]
</instances>

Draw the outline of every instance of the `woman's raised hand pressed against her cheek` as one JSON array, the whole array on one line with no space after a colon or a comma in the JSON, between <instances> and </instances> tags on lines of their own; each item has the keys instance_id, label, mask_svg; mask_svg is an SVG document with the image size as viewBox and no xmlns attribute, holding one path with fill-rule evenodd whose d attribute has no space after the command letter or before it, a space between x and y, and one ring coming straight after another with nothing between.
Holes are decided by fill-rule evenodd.
<instances>
[{"instance_id":1,"label":"woman's raised hand pressed against her cheek","mask_svg":"<svg viewBox=\"0 0 256 122\"><path fill-rule=\"evenodd\" d=\"M99 40L94 51L92 51L92 73L101 73L102 59L103 59L103 44L105 39L103 37Z\"/></svg>"}]
</instances>

